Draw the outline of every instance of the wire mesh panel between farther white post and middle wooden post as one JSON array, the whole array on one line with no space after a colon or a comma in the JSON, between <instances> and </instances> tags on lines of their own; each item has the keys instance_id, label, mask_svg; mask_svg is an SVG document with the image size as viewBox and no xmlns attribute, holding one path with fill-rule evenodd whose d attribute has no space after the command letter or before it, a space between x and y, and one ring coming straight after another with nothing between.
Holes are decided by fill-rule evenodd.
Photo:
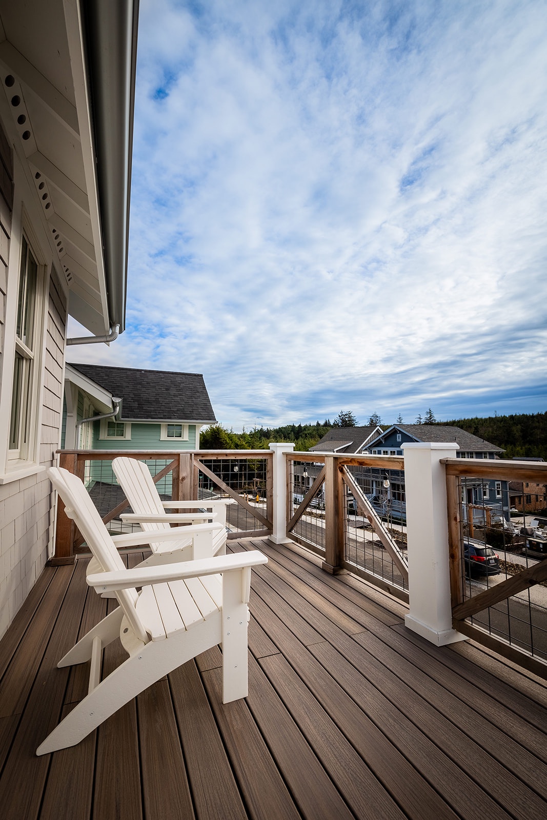
<instances>
[{"instance_id":1,"label":"wire mesh panel between farther white post and middle wooden post","mask_svg":"<svg viewBox=\"0 0 547 820\"><path fill-rule=\"evenodd\" d=\"M290 462L289 519L303 503L303 499L325 465L322 462ZM307 544L325 549L325 484L314 494L302 517L289 535L298 535Z\"/></svg>"}]
</instances>

